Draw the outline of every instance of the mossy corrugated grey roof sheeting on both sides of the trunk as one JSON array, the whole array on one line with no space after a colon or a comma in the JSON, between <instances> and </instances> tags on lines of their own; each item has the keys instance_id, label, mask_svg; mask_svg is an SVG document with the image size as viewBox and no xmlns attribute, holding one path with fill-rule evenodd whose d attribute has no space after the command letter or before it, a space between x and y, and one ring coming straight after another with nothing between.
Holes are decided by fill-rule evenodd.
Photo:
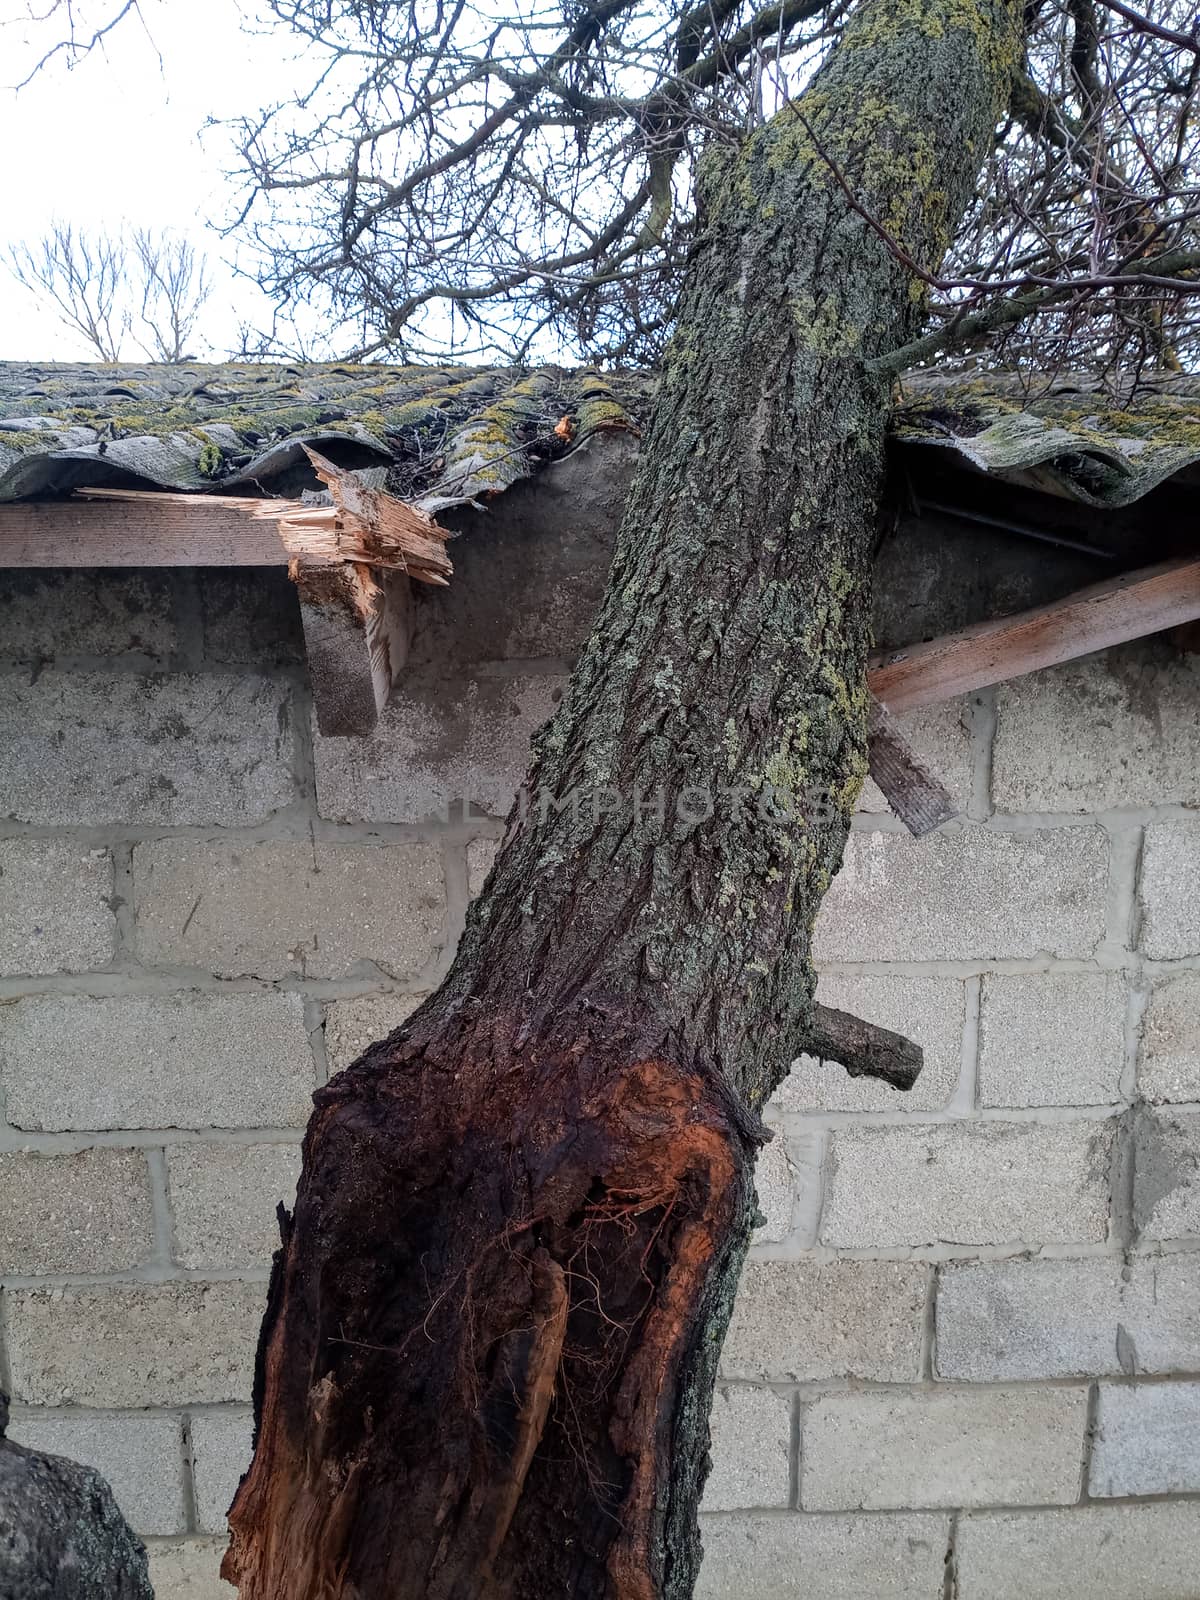
<instances>
[{"instance_id":1,"label":"mossy corrugated grey roof sheeting on both sides of the trunk","mask_svg":"<svg viewBox=\"0 0 1200 1600\"><path fill-rule=\"evenodd\" d=\"M637 429L653 374L565 368L0 363L0 499L80 485L253 493L318 450L430 512L528 477L602 429ZM1123 406L1069 379L920 374L891 419L904 450L1091 506L1126 506L1200 462L1200 382Z\"/></svg>"}]
</instances>

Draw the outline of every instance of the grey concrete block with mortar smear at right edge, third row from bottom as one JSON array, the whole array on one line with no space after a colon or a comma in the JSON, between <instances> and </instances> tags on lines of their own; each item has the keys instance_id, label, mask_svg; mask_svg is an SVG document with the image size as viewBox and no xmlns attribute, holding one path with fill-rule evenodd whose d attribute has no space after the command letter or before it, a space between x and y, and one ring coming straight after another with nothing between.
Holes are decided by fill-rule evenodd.
<instances>
[{"instance_id":1,"label":"grey concrete block with mortar smear at right edge, third row from bottom","mask_svg":"<svg viewBox=\"0 0 1200 1600\"><path fill-rule=\"evenodd\" d=\"M941 1378L1200 1371L1200 1254L946 1266L936 1304Z\"/></svg>"}]
</instances>

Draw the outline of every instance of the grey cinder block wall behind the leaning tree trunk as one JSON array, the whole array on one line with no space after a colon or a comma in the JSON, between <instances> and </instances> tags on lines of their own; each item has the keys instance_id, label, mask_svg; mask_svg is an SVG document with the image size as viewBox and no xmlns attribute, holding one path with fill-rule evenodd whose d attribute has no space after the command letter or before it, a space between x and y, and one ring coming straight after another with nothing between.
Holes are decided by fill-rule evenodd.
<instances>
[{"instance_id":1,"label":"grey cinder block wall behind the leaning tree trunk","mask_svg":"<svg viewBox=\"0 0 1200 1600\"><path fill-rule=\"evenodd\" d=\"M230 1594L309 1094L438 981L595 603L619 491L582 531L570 478L520 493L362 742L312 733L282 576L0 574L0 1382L16 1438L112 1480L162 1600ZM880 634L1082 576L1035 562L910 530ZM926 1070L802 1061L771 1107L702 1590L1195 1600L1200 662L909 730L965 819L915 843L867 790L819 958Z\"/></svg>"}]
</instances>

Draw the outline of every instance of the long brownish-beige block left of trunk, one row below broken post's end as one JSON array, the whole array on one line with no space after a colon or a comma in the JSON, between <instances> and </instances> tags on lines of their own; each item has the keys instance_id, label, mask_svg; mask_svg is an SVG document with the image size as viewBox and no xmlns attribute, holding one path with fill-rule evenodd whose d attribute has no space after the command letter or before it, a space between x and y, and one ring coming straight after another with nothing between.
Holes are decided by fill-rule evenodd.
<instances>
[{"instance_id":1,"label":"long brownish-beige block left of trunk, one row below broken post's end","mask_svg":"<svg viewBox=\"0 0 1200 1600\"><path fill-rule=\"evenodd\" d=\"M414 978L446 936L435 845L158 840L133 880L141 958L219 978Z\"/></svg>"}]
</instances>

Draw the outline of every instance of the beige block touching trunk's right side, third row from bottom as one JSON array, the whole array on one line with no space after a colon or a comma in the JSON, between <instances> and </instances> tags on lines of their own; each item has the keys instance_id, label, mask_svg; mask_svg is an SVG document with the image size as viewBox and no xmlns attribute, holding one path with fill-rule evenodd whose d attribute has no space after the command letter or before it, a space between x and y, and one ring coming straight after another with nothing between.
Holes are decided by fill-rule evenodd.
<instances>
[{"instance_id":1,"label":"beige block touching trunk's right side, third row from bottom","mask_svg":"<svg viewBox=\"0 0 1200 1600\"><path fill-rule=\"evenodd\" d=\"M725 1378L805 1382L920 1376L928 1269L910 1261L749 1261Z\"/></svg>"}]
</instances>

